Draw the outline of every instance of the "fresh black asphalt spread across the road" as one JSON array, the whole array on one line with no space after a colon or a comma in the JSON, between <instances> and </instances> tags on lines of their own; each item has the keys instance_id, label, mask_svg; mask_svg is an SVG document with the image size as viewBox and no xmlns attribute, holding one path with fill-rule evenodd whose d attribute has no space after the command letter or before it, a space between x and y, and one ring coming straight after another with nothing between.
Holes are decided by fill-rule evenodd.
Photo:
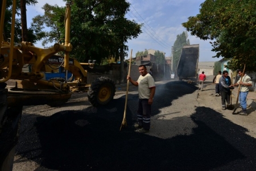
<instances>
[{"instance_id":1,"label":"fresh black asphalt spread across the road","mask_svg":"<svg viewBox=\"0 0 256 171\"><path fill-rule=\"evenodd\" d=\"M195 90L185 82L158 86L153 115ZM160 139L134 132L137 102L138 94L129 95L121 131L125 95L97 109L24 114L35 124L24 124L17 153L55 170L255 170L255 139L220 113L198 107L192 135Z\"/></svg>"}]
</instances>

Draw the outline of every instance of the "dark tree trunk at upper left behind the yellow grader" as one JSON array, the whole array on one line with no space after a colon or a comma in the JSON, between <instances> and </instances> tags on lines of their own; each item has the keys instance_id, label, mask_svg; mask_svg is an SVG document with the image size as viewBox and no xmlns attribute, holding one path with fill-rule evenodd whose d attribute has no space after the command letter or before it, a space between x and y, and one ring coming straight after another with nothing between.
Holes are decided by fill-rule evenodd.
<instances>
[{"instance_id":1,"label":"dark tree trunk at upper left behind the yellow grader","mask_svg":"<svg viewBox=\"0 0 256 171\"><path fill-rule=\"evenodd\" d=\"M28 41L26 0L20 0L20 14L21 14L20 19L22 24L22 41Z\"/></svg>"}]
</instances>

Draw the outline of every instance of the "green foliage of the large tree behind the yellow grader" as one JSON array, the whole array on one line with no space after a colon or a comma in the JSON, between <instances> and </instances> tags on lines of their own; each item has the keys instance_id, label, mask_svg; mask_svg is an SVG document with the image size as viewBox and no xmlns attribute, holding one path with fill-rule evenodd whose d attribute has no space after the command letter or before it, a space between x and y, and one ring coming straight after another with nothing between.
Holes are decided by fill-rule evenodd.
<instances>
[{"instance_id":1,"label":"green foliage of the large tree behind the yellow grader","mask_svg":"<svg viewBox=\"0 0 256 171\"><path fill-rule=\"evenodd\" d=\"M74 0L71 4L71 56L80 62L92 59L100 64L101 60L109 57L117 60L123 57L123 53L127 55L127 40L136 38L142 32L141 24L124 17L130 6L125 0ZM44 8L44 16L38 16L38 21L43 23L36 25L36 28L42 28L43 24L49 23L47 27L51 28L51 31L41 33L45 36L45 44L65 36L64 8L47 6L52 11ZM45 16L47 20L44 20Z\"/></svg>"}]
</instances>

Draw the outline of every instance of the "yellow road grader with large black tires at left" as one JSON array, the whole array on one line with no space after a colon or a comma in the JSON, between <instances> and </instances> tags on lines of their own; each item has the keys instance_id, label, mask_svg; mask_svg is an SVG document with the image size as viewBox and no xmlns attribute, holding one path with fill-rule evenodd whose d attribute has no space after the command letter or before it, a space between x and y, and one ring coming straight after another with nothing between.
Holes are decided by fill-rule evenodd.
<instances>
[{"instance_id":1,"label":"yellow road grader with large black tires at left","mask_svg":"<svg viewBox=\"0 0 256 171\"><path fill-rule=\"evenodd\" d=\"M65 14L65 43L55 43L49 48L38 48L24 41L14 45L15 0L13 1L11 38L10 41L3 39L6 0L0 0L0 3L0 170L12 170L23 106L61 105L71 97L71 86L88 90L88 99L93 106L106 105L114 97L115 85L108 77L97 78L92 85L86 84L85 68L92 68L93 64L80 63L69 57L72 51L69 38L70 5L67 5ZM64 53L62 66L73 74L72 81L68 81L67 77L64 81L43 80L42 71L46 70L48 60L56 57L58 52ZM23 70L26 65L31 66L28 72Z\"/></svg>"}]
</instances>

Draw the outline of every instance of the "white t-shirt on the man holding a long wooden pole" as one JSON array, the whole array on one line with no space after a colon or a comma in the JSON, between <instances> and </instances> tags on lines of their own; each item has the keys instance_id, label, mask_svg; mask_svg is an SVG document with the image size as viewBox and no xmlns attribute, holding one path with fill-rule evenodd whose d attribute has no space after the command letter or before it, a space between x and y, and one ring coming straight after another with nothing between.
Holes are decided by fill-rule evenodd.
<instances>
[{"instance_id":1,"label":"white t-shirt on the man holding a long wooden pole","mask_svg":"<svg viewBox=\"0 0 256 171\"><path fill-rule=\"evenodd\" d=\"M137 82L139 84L139 99L149 99L150 88L155 87L154 78L149 73L147 73L145 76L139 76Z\"/></svg>"}]
</instances>

